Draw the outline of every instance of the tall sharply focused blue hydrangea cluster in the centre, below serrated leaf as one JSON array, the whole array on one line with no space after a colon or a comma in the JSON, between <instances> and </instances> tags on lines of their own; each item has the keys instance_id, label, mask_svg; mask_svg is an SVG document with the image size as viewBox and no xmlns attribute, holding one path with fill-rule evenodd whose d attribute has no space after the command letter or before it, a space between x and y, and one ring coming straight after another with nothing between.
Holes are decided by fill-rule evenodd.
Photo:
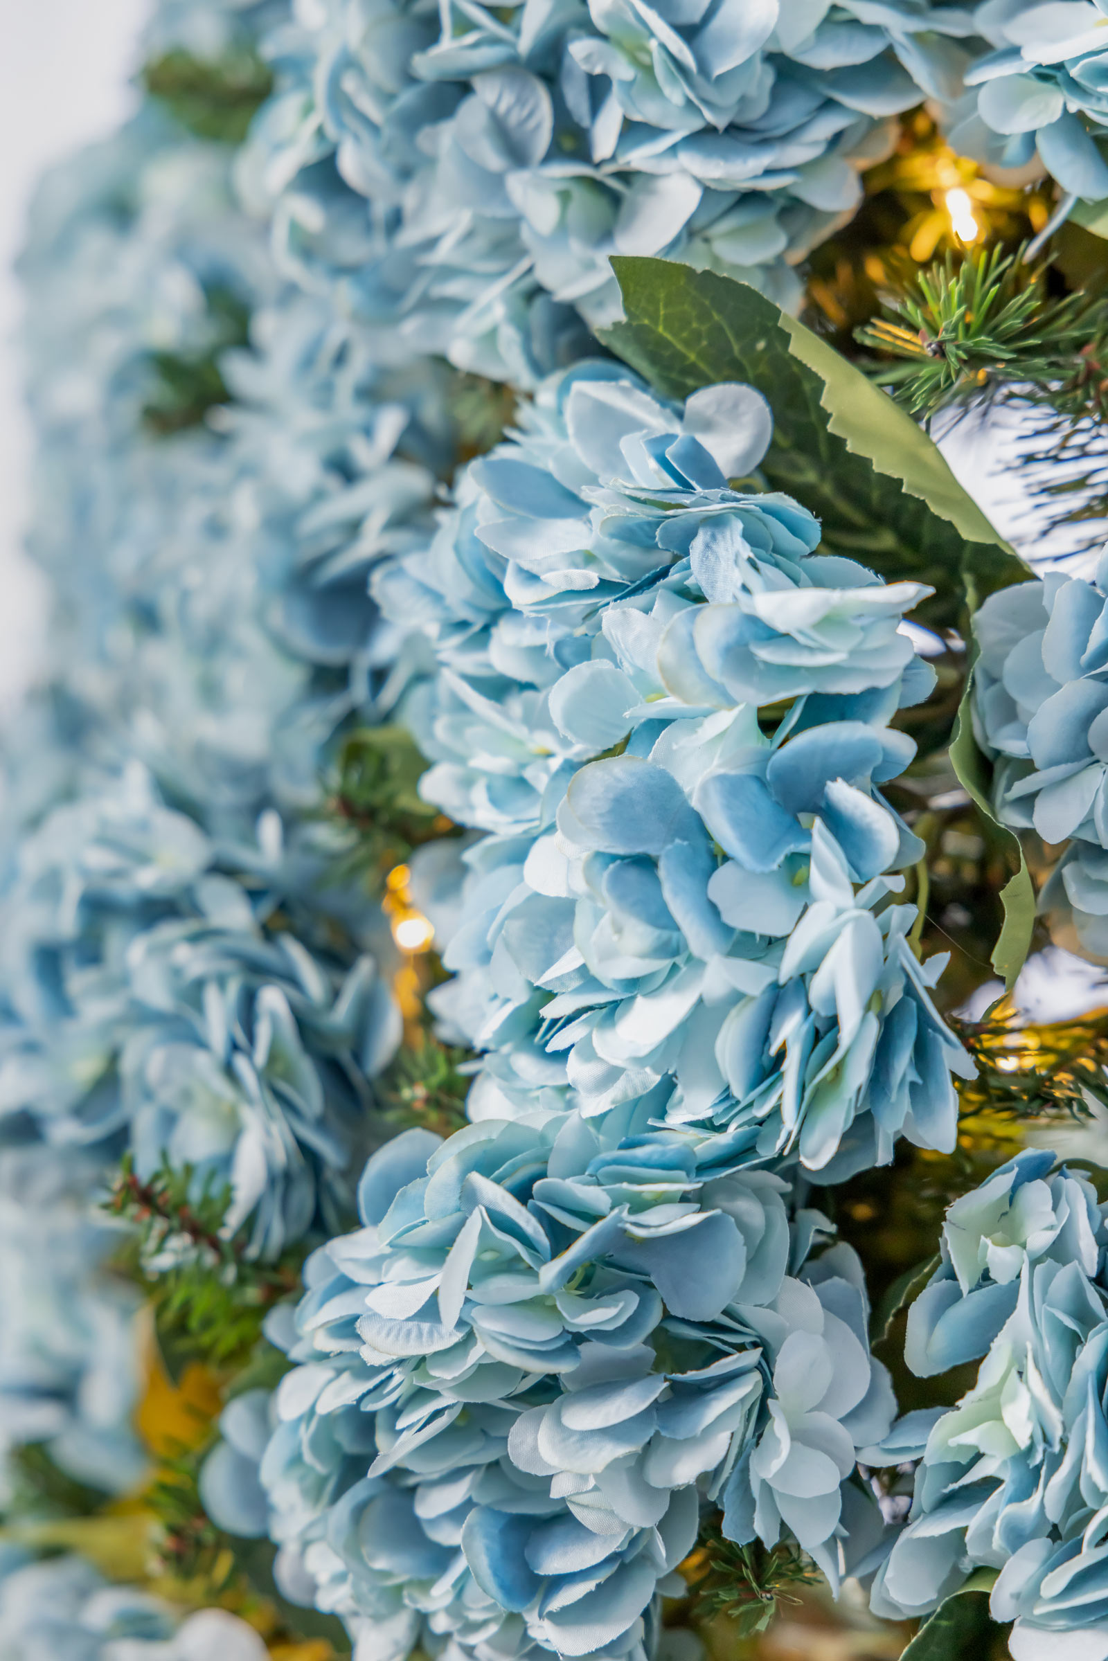
<instances>
[{"instance_id":1,"label":"tall sharply focused blue hydrangea cluster in the centre, below serrated leaf","mask_svg":"<svg viewBox=\"0 0 1108 1661\"><path fill-rule=\"evenodd\" d=\"M731 488L769 434L749 387L676 409L578 365L375 593L440 664L407 701L422 791L487 832L432 995L490 1053L472 1115L650 1101L699 1163L834 1179L954 1146L967 1061L887 904L920 849L880 784L930 688L899 631L925 590Z\"/></svg>"}]
</instances>

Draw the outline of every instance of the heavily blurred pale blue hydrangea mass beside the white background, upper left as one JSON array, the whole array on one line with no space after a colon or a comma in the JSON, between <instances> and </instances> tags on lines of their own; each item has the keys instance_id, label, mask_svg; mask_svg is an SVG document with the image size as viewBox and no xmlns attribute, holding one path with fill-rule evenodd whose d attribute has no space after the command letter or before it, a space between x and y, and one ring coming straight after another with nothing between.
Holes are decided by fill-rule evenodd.
<instances>
[{"instance_id":1,"label":"heavily blurred pale blue hydrangea mass beside the white background, upper left","mask_svg":"<svg viewBox=\"0 0 1108 1661\"><path fill-rule=\"evenodd\" d=\"M312 804L336 728L402 684L365 571L425 535L452 437L435 367L385 372L364 334L282 291L229 198L226 146L166 126L143 113L40 199L33 551L66 573L55 673L96 752L141 756L241 832L269 801ZM135 199L123 224L118 196ZM248 317L249 349L226 349ZM163 417L159 375L196 365L218 375L203 395L233 404Z\"/></svg>"}]
</instances>

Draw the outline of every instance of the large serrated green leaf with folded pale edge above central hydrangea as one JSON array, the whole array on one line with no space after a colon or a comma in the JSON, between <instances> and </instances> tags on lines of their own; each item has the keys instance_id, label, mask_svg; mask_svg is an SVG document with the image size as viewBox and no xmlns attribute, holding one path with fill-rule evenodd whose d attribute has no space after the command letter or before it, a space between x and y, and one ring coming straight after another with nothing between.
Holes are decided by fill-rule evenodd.
<instances>
[{"instance_id":1,"label":"large serrated green leaf with folded pale edge above central hydrangea","mask_svg":"<svg viewBox=\"0 0 1108 1661\"><path fill-rule=\"evenodd\" d=\"M970 588L980 601L1027 581L927 434L834 347L731 277L664 259L613 267L626 321L605 342L671 397L718 380L757 387L774 412L769 485L821 518L831 551L930 583L922 623L963 626Z\"/></svg>"}]
</instances>

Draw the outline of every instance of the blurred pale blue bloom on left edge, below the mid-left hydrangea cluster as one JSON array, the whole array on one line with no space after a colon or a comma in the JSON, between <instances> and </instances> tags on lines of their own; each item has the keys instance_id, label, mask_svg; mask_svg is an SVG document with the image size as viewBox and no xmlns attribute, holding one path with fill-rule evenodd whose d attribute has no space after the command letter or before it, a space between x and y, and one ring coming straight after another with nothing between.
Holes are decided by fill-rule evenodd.
<instances>
[{"instance_id":1,"label":"blurred pale blue bloom on left edge, below the mid-left hydrangea cluster","mask_svg":"<svg viewBox=\"0 0 1108 1661\"><path fill-rule=\"evenodd\" d=\"M145 1468L138 1297L106 1272L118 1232L95 1211L101 1179L75 1148L0 1151L0 1450L45 1443L80 1482L121 1493Z\"/></svg>"}]
</instances>

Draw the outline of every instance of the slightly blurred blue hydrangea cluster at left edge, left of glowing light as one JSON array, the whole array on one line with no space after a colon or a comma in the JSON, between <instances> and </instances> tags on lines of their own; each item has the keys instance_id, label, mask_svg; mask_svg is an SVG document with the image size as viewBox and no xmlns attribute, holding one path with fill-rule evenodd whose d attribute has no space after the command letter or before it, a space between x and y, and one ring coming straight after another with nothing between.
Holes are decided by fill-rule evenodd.
<instances>
[{"instance_id":1,"label":"slightly blurred blue hydrangea cluster at left edge, left of glowing light","mask_svg":"<svg viewBox=\"0 0 1108 1661\"><path fill-rule=\"evenodd\" d=\"M304 904L319 864L284 850L276 817L261 830L221 852L131 771L27 839L0 1101L53 1141L125 1136L140 1174L168 1156L229 1183L228 1226L249 1219L269 1254L339 1224L399 1017L355 938L337 945L341 895Z\"/></svg>"}]
</instances>

